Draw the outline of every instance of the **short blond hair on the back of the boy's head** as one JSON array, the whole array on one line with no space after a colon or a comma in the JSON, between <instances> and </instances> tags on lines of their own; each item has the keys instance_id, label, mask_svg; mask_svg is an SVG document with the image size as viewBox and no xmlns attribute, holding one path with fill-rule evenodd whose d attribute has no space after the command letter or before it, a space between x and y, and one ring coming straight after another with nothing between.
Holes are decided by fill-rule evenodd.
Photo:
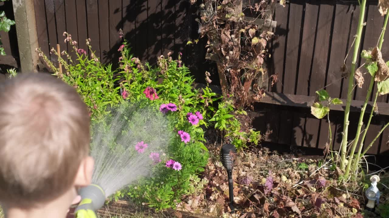
<instances>
[{"instance_id":1,"label":"short blond hair on the back of the boy's head","mask_svg":"<svg viewBox=\"0 0 389 218\"><path fill-rule=\"evenodd\" d=\"M43 73L0 84L0 202L32 206L74 183L89 152L88 109L79 94Z\"/></svg>"}]
</instances>

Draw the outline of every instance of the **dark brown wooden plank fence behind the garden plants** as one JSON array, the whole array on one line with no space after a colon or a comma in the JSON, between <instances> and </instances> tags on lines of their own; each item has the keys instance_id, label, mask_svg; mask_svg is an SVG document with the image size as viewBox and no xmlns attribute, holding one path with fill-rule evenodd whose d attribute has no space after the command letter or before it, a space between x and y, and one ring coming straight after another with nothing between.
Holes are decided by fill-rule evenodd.
<instances>
[{"instance_id":1,"label":"dark brown wooden plank fence behind the garden plants","mask_svg":"<svg viewBox=\"0 0 389 218\"><path fill-rule=\"evenodd\" d=\"M251 112L254 128L263 132L272 130L266 142L282 144L287 149L324 148L328 123L310 115L309 106L315 91L323 87L332 97L346 98L347 82L341 79L340 67L356 33L357 5L357 1L350 0L290 0L286 7L277 4L276 37L269 43L272 58L267 66L268 76L278 74L279 82L268 86L265 99L255 104ZM177 57L182 52L184 63L198 82L204 82L205 70L215 72L216 64L205 60L205 38L198 44L186 45L188 38L198 38L195 21L198 7L191 6L188 0L34 0L34 6L39 46L47 55L57 43L62 49L70 50L63 36L67 31L79 42L80 48L86 49L85 39L90 38L103 62L117 63L121 28L133 54L144 62L155 63L161 54L173 52L173 57ZM377 1L368 2L365 21L361 48L374 46L381 33L384 18L378 13ZM385 60L389 60L387 43L389 34L385 35L382 47ZM350 66L350 56L347 66ZM55 57L50 58L56 61ZM211 79L218 81L217 73ZM366 76L365 83L368 81ZM354 90L352 111L361 106L366 88L365 84ZM389 121L387 96L380 96L378 102L380 115L373 117L366 143ZM337 107L330 113L335 148L341 140L342 110L343 107ZM350 115L350 139L355 137L358 116L357 112ZM389 130L384 131L370 153L388 156L388 136Z\"/></svg>"}]
</instances>

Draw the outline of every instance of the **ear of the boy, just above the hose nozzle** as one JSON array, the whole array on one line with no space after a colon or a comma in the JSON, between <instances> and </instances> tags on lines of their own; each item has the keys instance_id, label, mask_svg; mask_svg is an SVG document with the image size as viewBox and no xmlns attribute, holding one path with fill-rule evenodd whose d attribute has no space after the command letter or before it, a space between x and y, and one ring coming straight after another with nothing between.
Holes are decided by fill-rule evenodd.
<instances>
[{"instance_id":1,"label":"ear of the boy, just above the hose nozzle","mask_svg":"<svg viewBox=\"0 0 389 218\"><path fill-rule=\"evenodd\" d=\"M92 182L93 166L95 160L93 157L85 157L79 166L77 175L74 180L74 185L78 187L90 185Z\"/></svg>"}]
</instances>

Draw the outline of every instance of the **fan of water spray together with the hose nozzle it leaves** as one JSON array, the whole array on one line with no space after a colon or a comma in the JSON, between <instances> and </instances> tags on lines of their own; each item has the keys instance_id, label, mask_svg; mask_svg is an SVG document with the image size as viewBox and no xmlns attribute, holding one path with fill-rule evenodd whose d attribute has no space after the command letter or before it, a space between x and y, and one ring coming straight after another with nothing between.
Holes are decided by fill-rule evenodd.
<instances>
[{"instance_id":1,"label":"fan of water spray together with the hose nozzle it leaves","mask_svg":"<svg viewBox=\"0 0 389 218\"><path fill-rule=\"evenodd\" d=\"M172 138L166 117L158 110L126 102L92 126L92 184L81 188L76 218L97 218L107 197L153 175ZM159 156L161 155L161 156Z\"/></svg>"}]
</instances>

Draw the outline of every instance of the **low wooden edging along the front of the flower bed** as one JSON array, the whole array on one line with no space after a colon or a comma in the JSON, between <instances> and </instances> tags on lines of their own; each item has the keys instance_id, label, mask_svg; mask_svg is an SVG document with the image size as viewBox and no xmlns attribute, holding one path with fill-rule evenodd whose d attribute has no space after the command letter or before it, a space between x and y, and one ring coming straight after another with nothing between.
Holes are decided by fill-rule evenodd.
<instances>
[{"instance_id":1,"label":"low wooden edging along the front of the flower bed","mask_svg":"<svg viewBox=\"0 0 389 218\"><path fill-rule=\"evenodd\" d=\"M120 215L133 215L136 213L139 213L140 208L135 208L134 206L131 206L127 201L119 200L119 201L112 201L107 206L105 206L103 209L100 209L97 211L98 215L100 216L120 216ZM177 210L178 211L178 210ZM207 216L207 215L201 215L201 214L194 214L189 213L185 211L178 211L182 218L216 218L213 216ZM145 208L142 210L143 215L149 215L152 216L155 214L154 209L152 208ZM163 215L166 217L176 217L175 213L176 210L173 209L166 209L164 211L161 211Z\"/></svg>"}]
</instances>

